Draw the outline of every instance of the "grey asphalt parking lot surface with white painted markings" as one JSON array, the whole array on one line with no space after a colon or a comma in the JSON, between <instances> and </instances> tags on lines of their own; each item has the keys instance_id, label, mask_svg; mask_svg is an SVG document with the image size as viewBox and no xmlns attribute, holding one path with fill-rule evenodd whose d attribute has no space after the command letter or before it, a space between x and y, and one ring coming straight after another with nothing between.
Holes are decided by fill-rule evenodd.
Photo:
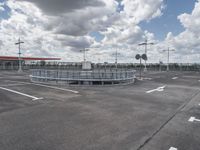
<instances>
[{"instance_id":1,"label":"grey asphalt parking lot surface with white painted markings","mask_svg":"<svg viewBox=\"0 0 200 150\"><path fill-rule=\"evenodd\" d=\"M0 73L2 150L198 150L200 73L134 84L52 86Z\"/></svg>"}]
</instances>

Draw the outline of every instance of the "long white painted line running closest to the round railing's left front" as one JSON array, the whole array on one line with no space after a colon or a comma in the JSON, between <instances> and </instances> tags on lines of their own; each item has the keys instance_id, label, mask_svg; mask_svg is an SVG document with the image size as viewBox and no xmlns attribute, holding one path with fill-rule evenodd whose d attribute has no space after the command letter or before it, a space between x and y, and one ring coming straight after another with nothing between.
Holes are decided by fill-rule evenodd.
<instances>
[{"instance_id":1,"label":"long white painted line running closest to the round railing's left front","mask_svg":"<svg viewBox=\"0 0 200 150\"><path fill-rule=\"evenodd\" d=\"M16 82L16 83L29 83L29 82L19 82L19 81L12 81L12 80L7 80L9 82ZM39 84L39 83L29 83L32 85L36 85L36 86L42 86L42 87L47 87L47 88L51 88L51 89L56 89L56 90L61 90L61 91L67 91L67 92L72 92L75 94L78 94L78 91L74 91L74 90L70 90L70 89L65 89L65 88L59 88L59 87L55 87L55 86L49 86L49 85L44 85L44 84Z\"/></svg>"}]
</instances>

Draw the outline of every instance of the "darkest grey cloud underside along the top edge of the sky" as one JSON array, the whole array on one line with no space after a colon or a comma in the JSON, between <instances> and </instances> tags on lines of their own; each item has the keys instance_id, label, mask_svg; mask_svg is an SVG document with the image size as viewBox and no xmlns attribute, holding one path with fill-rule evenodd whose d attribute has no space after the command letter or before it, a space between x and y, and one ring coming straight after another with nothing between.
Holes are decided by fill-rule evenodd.
<instances>
[{"instance_id":1,"label":"darkest grey cloud underside along the top edge of the sky","mask_svg":"<svg viewBox=\"0 0 200 150\"><path fill-rule=\"evenodd\" d=\"M100 0L17 0L34 3L48 15L59 15L86 7L104 6Z\"/></svg>"}]
</instances>

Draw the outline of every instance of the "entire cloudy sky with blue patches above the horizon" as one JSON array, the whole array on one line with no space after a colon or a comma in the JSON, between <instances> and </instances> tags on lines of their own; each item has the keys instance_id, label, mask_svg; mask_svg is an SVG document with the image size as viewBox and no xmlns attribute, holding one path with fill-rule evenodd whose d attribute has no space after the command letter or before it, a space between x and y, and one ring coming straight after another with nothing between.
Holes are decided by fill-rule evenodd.
<instances>
[{"instance_id":1,"label":"entire cloudy sky with blue patches above the horizon","mask_svg":"<svg viewBox=\"0 0 200 150\"><path fill-rule=\"evenodd\" d=\"M1 55L137 62L148 39L149 62L200 63L200 0L0 0Z\"/></svg>"}]
</instances>

